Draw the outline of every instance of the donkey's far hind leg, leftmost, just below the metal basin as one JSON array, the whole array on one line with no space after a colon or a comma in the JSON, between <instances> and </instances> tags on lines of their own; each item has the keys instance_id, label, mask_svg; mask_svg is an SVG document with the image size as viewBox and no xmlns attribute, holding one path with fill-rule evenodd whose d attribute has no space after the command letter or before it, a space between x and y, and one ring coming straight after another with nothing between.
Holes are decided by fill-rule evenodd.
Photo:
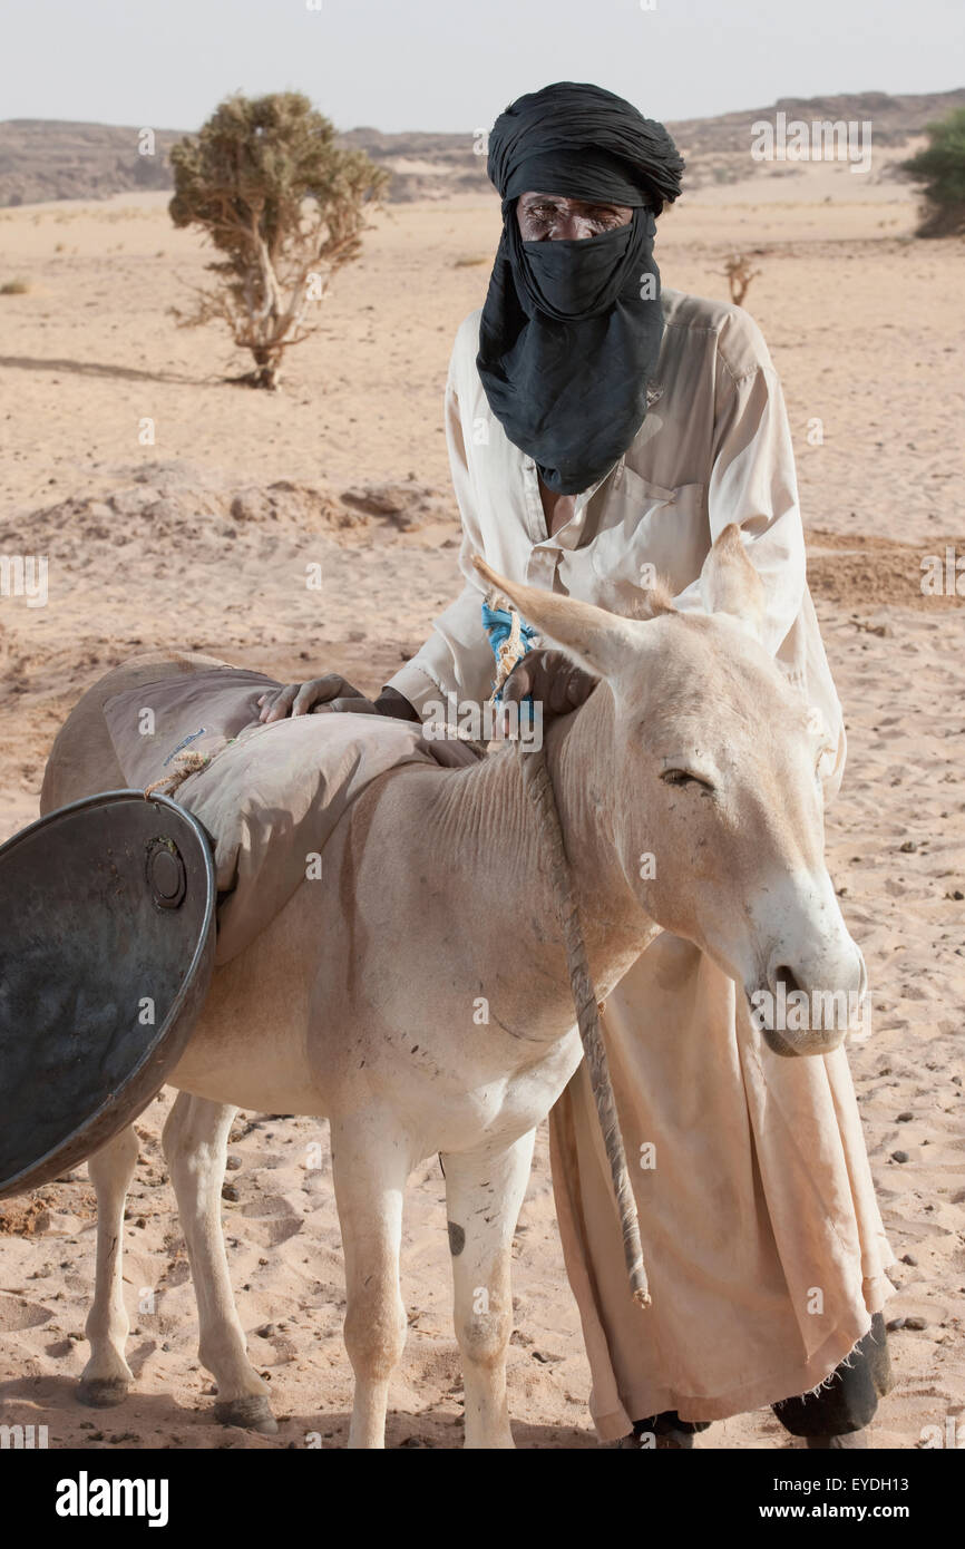
<instances>
[{"instance_id":1,"label":"donkey's far hind leg, leftmost, just below the metal basin","mask_svg":"<svg viewBox=\"0 0 965 1549\"><path fill-rule=\"evenodd\" d=\"M133 1125L108 1140L87 1163L98 1196L98 1269L94 1300L87 1315L85 1334L90 1360L84 1368L77 1399L94 1408L108 1408L127 1397L133 1382L124 1360L130 1332L121 1281L124 1239L124 1200L138 1165L138 1139Z\"/></svg>"}]
</instances>

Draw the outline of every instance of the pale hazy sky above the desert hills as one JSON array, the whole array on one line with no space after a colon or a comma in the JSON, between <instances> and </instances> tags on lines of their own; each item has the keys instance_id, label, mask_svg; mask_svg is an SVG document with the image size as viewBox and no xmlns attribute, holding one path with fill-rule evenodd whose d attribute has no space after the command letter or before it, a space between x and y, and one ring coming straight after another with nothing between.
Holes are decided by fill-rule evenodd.
<instances>
[{"instance_id":1,"label":"pale hazy sky above the desert hills","mask_svg":"<svg viewBox=\"0 0 965 1549\"><path fill-rule=\"evenodd\" d=\"M0 0L0 118L153 129L235 88L305 91L339 129L472 130L564 79L661 119L965 84L963 0Z\"/></svg>"}]
</instances>

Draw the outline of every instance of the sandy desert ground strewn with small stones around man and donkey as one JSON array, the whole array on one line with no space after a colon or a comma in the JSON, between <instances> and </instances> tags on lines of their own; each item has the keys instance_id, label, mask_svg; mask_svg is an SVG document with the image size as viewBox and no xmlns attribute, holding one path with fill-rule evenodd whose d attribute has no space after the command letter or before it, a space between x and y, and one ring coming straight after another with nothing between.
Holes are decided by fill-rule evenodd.
<instances>
[{"instance_id":1,"label":"sandy desert ground strewn with small stones around man and donkey","mask_svg":"<svg viewBox=\"0 0 965 1549\"><path fill-rule=\"evenodd\" d=\"M965 1410L965 599L920 595L925 555L946 544L965 555L962 245L909 242L906 191L860 197L844 167L816 175L767 197L736 186L685 198L661 222L658 256L666 283L706 296L726 296L736 248L762 271L748 307L785 384L812 586L850 734L829 853L874 984L874 1038L852 1064L900 1258L888 1317L922 1324L892 1335L897 1388L874 1445L911 1448ZM167 308L201 280L206 252L172 231L163 197L0 212L0 285L31 287L0 296L0 555L50 561L46 607L0 598L0 836L36 815L70 705L127 654L189 644L282 678L336 668L372 689L417 649L455 589L440 397L496 235L494 201L378 217L364 262L338 277L285 392L270 397L218 381L245 364L222 336L173 328ZM139 440L144 420L153 445ZM364 486L386 482L401 486L395 510L366 516ZM322 564L321 595L305 589L308 562ZM0 1416L46 1424L56 1447L300 1447L308 1433L339 1445L350 1406L339 1231L328 1163L305 1166L313 1142L327 1154L327 1135L313 1120L235 1123L232 1281L282 1425L277 1437L223 1431L209 1424L160 1154L167 1101L139 1120L129 1204L136 1393L112 1411L73 1397L93 1283L93 1194L79 1168L0 1205ZM542 1134L514 1256L517 1441L593 1447ZM410 1182L403 1278L410 1329L389 1442L452 1447L462 1388L437 1162ZM762 1411L716 1424L700 1445L793 1444Z\"/></svg>"}]
</instances>

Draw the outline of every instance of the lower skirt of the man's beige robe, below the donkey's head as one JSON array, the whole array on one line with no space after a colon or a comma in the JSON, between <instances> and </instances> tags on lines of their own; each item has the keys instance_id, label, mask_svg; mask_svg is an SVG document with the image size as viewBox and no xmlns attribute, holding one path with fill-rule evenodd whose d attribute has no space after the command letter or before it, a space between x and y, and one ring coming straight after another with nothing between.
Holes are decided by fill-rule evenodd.
<instances>
[{"instance_id":1,"label":"lower skirt of the man's beige robe, below the donkey's head","mask_svg":"<svg viewBox=\"0 0 965 1549\"><path fill-rule=\"evenodd\" d=\"M844 1049L771 1053L733 981L668 934L610 994L603 1025L651 1307L627 1289L584 1066L550 1117L599 1436L661 1410L717 1420L816 1386L891 1292Z\"/></svg>"}]
</instances>

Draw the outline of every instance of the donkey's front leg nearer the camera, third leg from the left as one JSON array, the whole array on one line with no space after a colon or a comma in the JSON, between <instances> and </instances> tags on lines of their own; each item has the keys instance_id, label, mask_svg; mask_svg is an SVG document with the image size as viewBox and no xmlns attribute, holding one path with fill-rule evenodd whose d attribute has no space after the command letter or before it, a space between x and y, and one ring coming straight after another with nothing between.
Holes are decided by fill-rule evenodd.
<instances>
[{"instance_id":1,"label":"donkey's front leg nearer the camera, third leg from the left","mask_svg":"<svg viewBox=\"0 0 965 1549\"><path fill-rule=\"evenodd\" d=\"M389 1379L406 1343L398 1286L406 1137L390 1115L331 1123L331 1174L345 1256L345 1349L355 1372L350 1447L386 1445Z\"/></svg>"}]
</instances>

